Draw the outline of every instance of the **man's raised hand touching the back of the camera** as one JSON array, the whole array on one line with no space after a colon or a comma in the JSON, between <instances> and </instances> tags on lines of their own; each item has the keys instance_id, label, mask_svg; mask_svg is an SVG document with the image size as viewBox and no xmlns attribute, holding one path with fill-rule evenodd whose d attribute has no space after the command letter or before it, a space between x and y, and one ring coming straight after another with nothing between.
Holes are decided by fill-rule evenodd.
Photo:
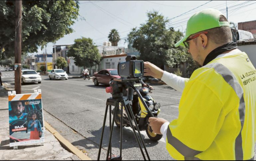
<instances>
[{"instance_id":1,"label":"man's raised hand touching the back of the camera","mask_svg":"<svg viewBox=\"0 0 256 161\"><path fill-rule=\"evenodd\" d=\"M157 79L161 79L164 71L152 64L151 62L144 62L144 76L152 76Z\"/></svg>"}]
</instances>

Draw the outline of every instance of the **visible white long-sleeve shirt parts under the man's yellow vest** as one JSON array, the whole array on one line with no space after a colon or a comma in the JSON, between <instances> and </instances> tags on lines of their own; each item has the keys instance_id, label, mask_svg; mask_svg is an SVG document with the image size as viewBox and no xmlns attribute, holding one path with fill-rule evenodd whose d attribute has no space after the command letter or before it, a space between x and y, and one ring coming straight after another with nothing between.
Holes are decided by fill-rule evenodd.
<instances>
[{"instance_id":1,"label":"visible white long-sleeve shirt parts under the man's yellow vest","mask_svg":"<svg viewBox=\"0 0 256 161\"><path fill-rule=\"evenodd\" d=\"M239 49L234 49L234 50L232 50L228 53L218 55L215 59L220 58L220 57L224 57L224 56L229 56L229 55L241 53L241 52L242 51L240 51ZM185 88L185 84L186 84L186 82L189 81L189 78L183 78L183 77L177 76L173 73L169 73L167 71L164 71L164 74L163 74L161 80L164 81L170 87L174 88L175 90L177 90L179 92L183 92L183 90ZM168 128L169 124L170 124L170 122L165 122L161 126L161 129L160 129L160 132L162 133L163 138L164 138L165 141L166 141L166 132L167 132L167 128Z\"/></svg>"}]
</instances>

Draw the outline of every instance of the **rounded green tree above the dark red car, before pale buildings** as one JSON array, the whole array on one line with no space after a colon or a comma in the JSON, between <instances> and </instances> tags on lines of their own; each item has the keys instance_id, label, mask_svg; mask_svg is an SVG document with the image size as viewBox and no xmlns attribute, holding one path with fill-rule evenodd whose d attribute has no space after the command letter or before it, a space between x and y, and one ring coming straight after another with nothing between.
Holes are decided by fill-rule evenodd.
<instances>
[{"instance_id":1,"label":"rounded green tree above the dark red car, before pale buildings","mask_svg":"<svg viewBox=\"0 0 256 161\"><path fill-rule=\"evenodd\" d=\"M92 67L100 62L99 50L90 38L75 39L67 56L73 57L75 65L79 67Z\"/></svg>"}]
</instances>

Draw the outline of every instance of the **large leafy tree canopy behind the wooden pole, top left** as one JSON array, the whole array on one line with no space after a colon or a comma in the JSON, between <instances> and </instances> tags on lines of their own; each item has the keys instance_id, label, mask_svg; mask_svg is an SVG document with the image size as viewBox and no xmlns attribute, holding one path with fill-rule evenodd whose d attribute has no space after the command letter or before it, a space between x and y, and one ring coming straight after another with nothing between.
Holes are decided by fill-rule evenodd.
<instances>
[{"instance_id":1,"label":"large leafy tree canopy behind the wooden pole, top left","mask_svg":"<svg viewBox=\"0 0 256 161\"><path fill-rule=\"evenodd\" d=\"M22 1L22 52L37 52L39 46L73 32L78 1ZM15 1L0 1L0 58L14 55Z\"/></svg>"}]
</instances>

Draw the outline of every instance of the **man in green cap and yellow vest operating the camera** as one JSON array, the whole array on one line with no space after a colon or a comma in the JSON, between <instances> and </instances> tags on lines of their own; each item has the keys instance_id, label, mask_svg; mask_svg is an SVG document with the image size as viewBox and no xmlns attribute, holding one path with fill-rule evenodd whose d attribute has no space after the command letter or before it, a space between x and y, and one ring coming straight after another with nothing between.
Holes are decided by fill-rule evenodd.
<instances>
[{"instance_id":1,"label":"man in green cap and yellow vest operating the camera","mask_svg":"<svg viewBox=\"0 0 256 161\"><path fill-rule=\"evenodd\" d=\"M144 75L182 92L178 119L149 118L149 125L174 159L253 160L256 69L232 41L227 19L215 9L195 13L179 45L200 68L188 79L144 63Z\"/></svg>"}]
</instances>

